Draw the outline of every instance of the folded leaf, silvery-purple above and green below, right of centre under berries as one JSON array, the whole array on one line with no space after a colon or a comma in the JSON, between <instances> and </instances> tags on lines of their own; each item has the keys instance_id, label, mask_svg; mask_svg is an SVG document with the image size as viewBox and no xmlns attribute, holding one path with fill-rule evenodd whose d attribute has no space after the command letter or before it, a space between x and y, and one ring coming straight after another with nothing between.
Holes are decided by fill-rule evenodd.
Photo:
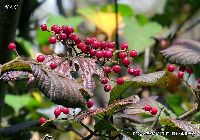
<instances>
[{"instance_id":1,"label":"folded leaf, silvery-purple above and green below, right of centre under berries","mask_svg":"<svg viewBox=\"0 0 200 140\"><path fill-rule=\"evenodd\" d=\"M142 74L128 81L125 81L122 85L116 85L110 93L109 104L118 100L121 94L124 91L126 91L129 87L142 87L142 86L153 86L153 85L166 86L165 71Z\"/></svg>"}]
</instances>

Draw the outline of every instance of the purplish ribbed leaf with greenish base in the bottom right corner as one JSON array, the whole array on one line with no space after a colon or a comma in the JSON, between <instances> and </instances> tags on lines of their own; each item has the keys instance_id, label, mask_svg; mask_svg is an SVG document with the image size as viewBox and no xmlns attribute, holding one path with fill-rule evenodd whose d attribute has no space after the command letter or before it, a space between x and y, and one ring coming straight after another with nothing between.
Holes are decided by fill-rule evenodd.
<instances>
[{"instance_id":1,"label":"purplish ribbed leaf with greenish base in the bottom right corner","mask_svg":"<svg viewBox=\"0 0 200 140\"><path fill-rule=\"evenodd\" d=\"M194 132L196 135L200 135L200 129L187 121L163 118L159 122L164 126L178 127L185 132Z\"/></svg>"}]
</instances>

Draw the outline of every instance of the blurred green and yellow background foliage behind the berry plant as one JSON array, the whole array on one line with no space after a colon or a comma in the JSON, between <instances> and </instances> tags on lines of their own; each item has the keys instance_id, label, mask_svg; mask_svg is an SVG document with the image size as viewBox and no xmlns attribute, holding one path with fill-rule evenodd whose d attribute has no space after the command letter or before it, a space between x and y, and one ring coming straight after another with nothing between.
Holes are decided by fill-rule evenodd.
<instances>
[{"instance_id":1,"label":"blurred green and yellow background foliage behind the berry plant","mask_svg":"<svg viewBox=\"0 0 200 140\"><path fill-rule=\"evenodd\" d=\"M118 1L118 34L119 42L128 42L129 49L139 52L134 65L140 66L143 73L164 70L166 61L159 51L167 48L170 37L184 37L200 40L200 1L199 0L119 0ZM98 40L115 41L116 13L113 0L29 0L23 1L15 41L20 55L34 58L39 53L60 53L63 46L56 44L55 49L48 43L51 35L42 32L40 24L72 25L83 39L95 36ZM174 33L175 32L175 33ZM1 33L3 34L3 33ZM162 39L166 39L163 44ZM1 46L7 47L7 46ZM1 52L3 53L3 52ZM12 55L10 53L10 55ZM195 66L195 73L190 80L195 85L194 77L200 77L200 68ZM98 81L97 81L98 82ZM55 104L49 102L37 91L26 92L26 83L9 83L2 114L1 127L17 124L40 116L53 117ZM193 95L181 81L170 75L168 89L131 88L124 96L139 94L141 97L159 95L166 99L176 115L192 108ZM103 107L108 102L109 94L104 93L100 84L96 88L98 98L95 107ZM70 110L71 113L73 109ZM200 113L193 119L199 120ZM87 120L86 120L87 121ZM64 122L55 122L62 126ZM88 122L89 123L89 122ZM89 124L92 124L91 122ZM74 132L55 131L54 128L34 130L31 133L19 134L14 138L35 139L49 133L56 139L80 139ZM84 130L77 124L76 129ZM40 135L39 133L40 132Z\"/></svg>"}]
</instances>

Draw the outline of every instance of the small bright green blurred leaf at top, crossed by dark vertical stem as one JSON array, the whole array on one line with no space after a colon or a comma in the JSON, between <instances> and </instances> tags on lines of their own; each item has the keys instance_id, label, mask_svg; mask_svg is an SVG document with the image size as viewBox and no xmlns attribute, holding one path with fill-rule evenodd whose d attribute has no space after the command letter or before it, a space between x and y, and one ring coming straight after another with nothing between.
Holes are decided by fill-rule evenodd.
<instances>
[{"instance_id":1,"label":"small bright green blurred leaf at top, crossed by dark vertical stem","mask_svg":"<svg viewBox=\"0 0 200 140\"><path fill-rule=\"evenodd\" d=\"M115 5L106 5L101 8L102 12L115 12ZM133 16L133 9L127 4L118 4L118 13L122 16Z\"/></svg>"}]
</instances>

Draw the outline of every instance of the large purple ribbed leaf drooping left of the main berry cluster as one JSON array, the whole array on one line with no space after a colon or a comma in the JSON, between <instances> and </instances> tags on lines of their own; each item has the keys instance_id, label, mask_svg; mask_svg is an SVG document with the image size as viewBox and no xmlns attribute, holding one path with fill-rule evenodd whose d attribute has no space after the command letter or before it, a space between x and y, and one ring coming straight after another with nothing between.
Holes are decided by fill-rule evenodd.
<instances>
[{"instance_id":1,"label":"large purple ribbed leaf drooping left of the main berry cluster","mask_svg":"<svg viewBox=\"0 0 200 140\"><path fill-rule=\"evenodd\" d=\"M52 102L67 107L85 108L90 92L75 80L46 69L43 66L31 64L34 80L31 84L39 88Z\"/></svg>"}]
</instances>

